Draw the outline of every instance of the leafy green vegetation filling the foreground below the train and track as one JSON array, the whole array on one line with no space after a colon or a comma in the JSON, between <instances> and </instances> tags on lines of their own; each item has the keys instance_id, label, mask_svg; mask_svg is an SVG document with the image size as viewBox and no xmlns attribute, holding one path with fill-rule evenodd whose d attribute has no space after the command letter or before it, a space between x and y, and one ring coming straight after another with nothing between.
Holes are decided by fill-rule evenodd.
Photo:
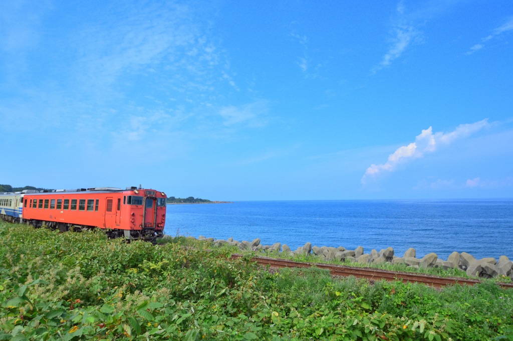
<instances>
[{"instance_id":1,"label":"leafy green vegetation filling the foreground below the train and track","mask_svg":"<svg viewBox=\"0 0 513 341\"><path fill-rule=\"evenodd\" d=\"M513 290L270 272L177 237L0 223L0 339L513 340Z\"/></svg>"}]
</instances>

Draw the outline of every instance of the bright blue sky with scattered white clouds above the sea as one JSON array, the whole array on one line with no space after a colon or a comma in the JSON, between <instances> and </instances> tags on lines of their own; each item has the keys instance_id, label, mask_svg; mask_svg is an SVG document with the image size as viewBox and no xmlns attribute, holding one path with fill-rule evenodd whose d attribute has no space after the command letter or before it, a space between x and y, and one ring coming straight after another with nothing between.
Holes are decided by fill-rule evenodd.
<instances>
[{"instance_id":1,"label":"bright blue sky with scattered white clouds above the sea","mask_svg":"<svg viewBox=\"0 0 513 341\"><path fill-rule=\"evenodd\" d=\"M513 197L504 1L0 4L0 183Z\"/></svg>"}]
</instances>

